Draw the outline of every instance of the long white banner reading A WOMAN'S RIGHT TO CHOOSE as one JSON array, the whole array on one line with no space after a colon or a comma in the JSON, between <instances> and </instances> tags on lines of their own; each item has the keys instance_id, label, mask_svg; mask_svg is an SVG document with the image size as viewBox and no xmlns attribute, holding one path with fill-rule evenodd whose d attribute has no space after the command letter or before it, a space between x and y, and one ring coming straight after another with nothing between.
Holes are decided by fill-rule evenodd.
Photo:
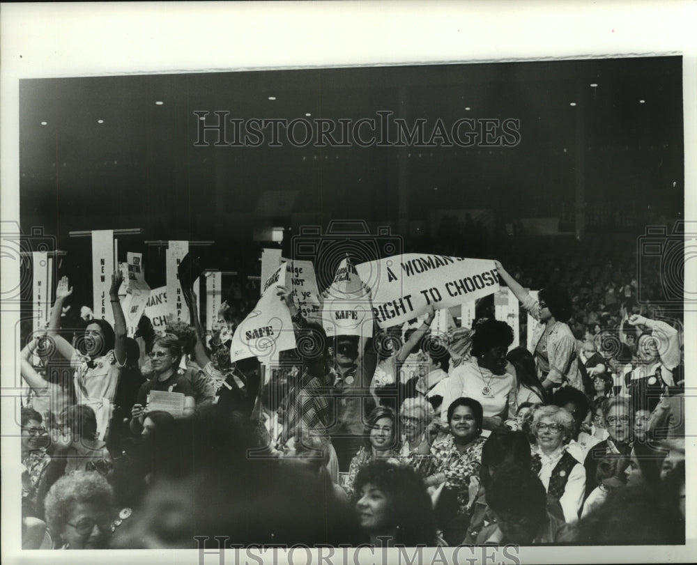
<instances>
[{"instance_id":1,"label":"long white banner reading A WOMAN'S RIGHT TO CHOOSE","mask_svg":"<svg viewBox=\"0 0 697 565\"><path fill-rule=\"evenodd\" d=\"M404 323L429 304L448 308L498 291L498 273L489 259L409 253L356 265L370 287L380 327Z\"/></svg>"}]
</instances>

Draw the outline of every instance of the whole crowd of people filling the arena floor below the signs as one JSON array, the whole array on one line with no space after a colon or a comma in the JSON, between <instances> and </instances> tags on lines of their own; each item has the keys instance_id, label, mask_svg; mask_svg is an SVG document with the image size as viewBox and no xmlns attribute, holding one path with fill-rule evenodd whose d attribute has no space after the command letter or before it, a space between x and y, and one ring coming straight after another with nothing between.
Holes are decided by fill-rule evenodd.
<instances>
[{"instance_id":1,"label":"whole crowd of people filling the arena floor below the signs","mask_svg":"<svg viewBox=\"0 0 697 565\"><path fill-rule=\"evenodd\" d=\"M432 334L432 308L328 339L281 286L298 347L275 367L232 363L243 311L206 336L192 288L190 324L129 337L119 272L113 327L76 331L63 277L21 355L23 547L684 543L680 325L631 283L599 312L496 268L532 350L491 316Z\"/></svg>"}]
</instances>

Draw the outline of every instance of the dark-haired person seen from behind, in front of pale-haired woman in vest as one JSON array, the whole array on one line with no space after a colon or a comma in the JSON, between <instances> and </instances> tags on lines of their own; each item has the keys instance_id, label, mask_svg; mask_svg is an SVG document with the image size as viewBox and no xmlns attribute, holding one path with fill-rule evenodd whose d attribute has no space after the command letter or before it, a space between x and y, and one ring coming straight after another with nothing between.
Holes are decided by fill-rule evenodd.
<instances>
[{"instance_id":1,"label":"dark-haired person seen from behind, in front of pale-haired woman in vest","mask_svg":"<svg viewBox=\"0 0 697 565\"><path fill-rule=\"evenodd\" d=\"M574 540L569 525L547 511L544 486L535 474L503 467L487 488L487 503L496 522L482 529L477 545L538 545Z\"/></svg>"}]
</instances>

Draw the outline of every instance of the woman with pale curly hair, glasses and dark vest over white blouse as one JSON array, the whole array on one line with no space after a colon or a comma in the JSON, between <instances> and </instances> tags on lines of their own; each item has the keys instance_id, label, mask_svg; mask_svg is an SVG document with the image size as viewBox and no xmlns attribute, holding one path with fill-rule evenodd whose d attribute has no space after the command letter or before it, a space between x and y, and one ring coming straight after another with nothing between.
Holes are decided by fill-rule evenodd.
<instances>
[{"instance_id":1,"label":"woman with pale curly hair, glasses and dark vest over white blouse","mask_svg":"<svg viewBox=\"0 0 697 565\"><path fill-rule=\"evenodd\" d=\"M567 524L579 520L585 495L583 465L566 449L575 428L571 413L558 406L541 406L533 415L532 469L547 491L548 511Z\"/></svg>"}]
</instances>

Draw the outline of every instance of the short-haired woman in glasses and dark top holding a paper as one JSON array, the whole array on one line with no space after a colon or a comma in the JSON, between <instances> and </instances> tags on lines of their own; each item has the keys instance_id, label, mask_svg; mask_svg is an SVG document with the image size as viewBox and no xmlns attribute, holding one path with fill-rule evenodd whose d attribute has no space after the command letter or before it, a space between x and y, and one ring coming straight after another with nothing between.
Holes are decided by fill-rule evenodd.
<instances>
[{"instance_id":1,"label":"short-haired woman in glasses and dark top holding a paper","mask_svg":"<svg viewBox=\"0 0 697 565\"><path fill-rule=\"evenodd\" d=\"M139 435L148 412L148 397L153 391L178 392L184 395L183 417L191 417L196 409L194 389L179 373L182 350L176 336L167 334L155 339L149 353L153 365L153 376L144 382L138 391L137 402L131 410L131 432Z\"/></svg>"}]
</instances>

